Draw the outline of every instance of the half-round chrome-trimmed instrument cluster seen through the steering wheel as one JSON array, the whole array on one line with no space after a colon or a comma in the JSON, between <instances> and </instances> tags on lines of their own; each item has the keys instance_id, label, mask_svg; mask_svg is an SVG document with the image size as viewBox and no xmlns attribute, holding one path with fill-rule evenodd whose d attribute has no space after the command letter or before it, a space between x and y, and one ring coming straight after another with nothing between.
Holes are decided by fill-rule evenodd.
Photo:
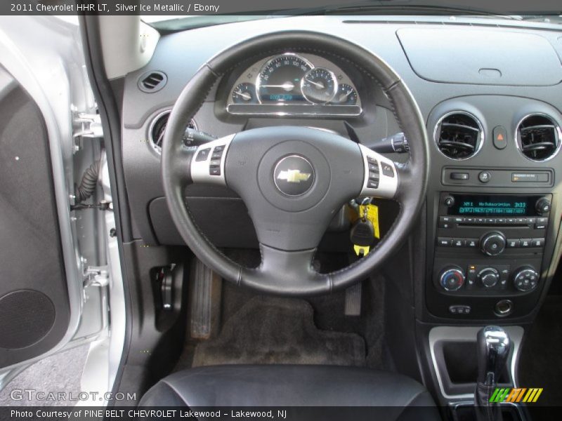
<instances>
[{"instance_id":1,"label":"half-round chrome-trimmed instrument cluster seen through the steering wheel","mask_svg":"<svg viewBox=\"0 0 562 421\"><path fill-rule=\"evenodd\" d=\"M284 53L254 63L230 88L230 114L358 116L350 77L318 55Z\"/></svg>"}]
</instances>

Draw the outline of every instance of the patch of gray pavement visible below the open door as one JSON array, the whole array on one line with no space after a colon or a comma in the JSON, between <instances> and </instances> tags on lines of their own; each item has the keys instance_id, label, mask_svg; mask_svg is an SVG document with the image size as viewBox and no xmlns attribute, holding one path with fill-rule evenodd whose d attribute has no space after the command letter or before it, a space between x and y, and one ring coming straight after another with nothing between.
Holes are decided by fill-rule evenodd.
<instances>
[{"instance_id":1,"label":"patch of gray pavement visible below the open door","mask_svg":"<svg viewBox=\"0 0 562 421\"><path fill-rule=\"evenodd\" d=\"M56 401L51 399L37 400L32 392L64 392L72 393L74 399L81 392L80 380L89 345L81 345L42 359L16 375L11 382L0 391L0 406L73 406L75 401ZM16 391L11 398L13 391ZM20 391L20 392L18 392ZM19 399L22 396L22 399ZM39 395L41 396L41 395ZM31 399L29 399L31 397Z\"/></svg>"}]
</instances>

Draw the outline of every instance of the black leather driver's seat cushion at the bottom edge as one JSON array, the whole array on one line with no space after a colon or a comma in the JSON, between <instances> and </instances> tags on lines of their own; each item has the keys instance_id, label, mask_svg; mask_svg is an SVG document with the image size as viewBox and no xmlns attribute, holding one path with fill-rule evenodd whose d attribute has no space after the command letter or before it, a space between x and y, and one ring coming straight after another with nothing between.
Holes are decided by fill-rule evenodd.
<instances>
[{"instance_id":1,"label":"black leather driver's seat cushion at the bottom edge","mask_svg":"<svg viewBox=\"0 0 562 421\"><path fill-rule=\"evenodd\" d=\"M384 406L380 419L440 420L429 392L410 377L339 366L192 368L160 380L140 405Z\"/></svg>"}]
</instances>

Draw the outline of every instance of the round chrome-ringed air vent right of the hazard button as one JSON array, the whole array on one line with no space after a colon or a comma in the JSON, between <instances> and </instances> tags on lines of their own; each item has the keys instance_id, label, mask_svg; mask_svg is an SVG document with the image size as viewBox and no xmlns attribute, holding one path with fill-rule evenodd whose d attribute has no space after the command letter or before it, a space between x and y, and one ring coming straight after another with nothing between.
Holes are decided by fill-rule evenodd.
<instances>
[{"instance_id":1,"label":"round chrome-ringed air vent right of the hazard button","mask_svg":"<svg viewBox=\"0 0 562 421\"><path fill-rule=\"evenodd\" d=\"M547 161L560 147L560 128L544 114L526 116L517 126L517 147L532 161Z\"/></svg>"}]
</instances>

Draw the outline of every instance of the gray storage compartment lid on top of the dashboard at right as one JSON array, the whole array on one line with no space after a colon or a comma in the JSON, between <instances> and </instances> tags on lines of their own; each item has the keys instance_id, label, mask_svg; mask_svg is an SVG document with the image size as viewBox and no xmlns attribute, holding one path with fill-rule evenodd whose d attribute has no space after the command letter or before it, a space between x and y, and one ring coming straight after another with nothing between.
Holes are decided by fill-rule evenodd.
<instances>
[{"instance_id":1,"label":"gray storage compartment lid on top of the dashboard at right","mask_svg":"<svg viewBox=\"0 0 562 421\"><path fill-rule=\"evenodd\" d=\"M403 28L397 35L414 72L428 81L552 86L562 80L556 51L537 34L482 28ZM524 60L519 46L525 46Z\"/></svg>"}]
</instances>

